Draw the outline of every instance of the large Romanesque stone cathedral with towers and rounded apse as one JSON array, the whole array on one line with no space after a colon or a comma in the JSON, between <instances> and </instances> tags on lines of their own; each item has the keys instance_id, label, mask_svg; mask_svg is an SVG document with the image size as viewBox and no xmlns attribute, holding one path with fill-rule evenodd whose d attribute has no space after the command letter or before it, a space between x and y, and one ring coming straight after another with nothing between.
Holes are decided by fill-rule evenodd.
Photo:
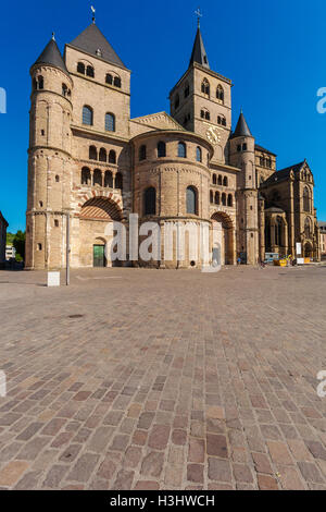
<instances>
[{"instance_id":1,"label":"large Romanesque stone cathedral with towers and rounded apse","mask_svg":"<svg viewBox=\"0 0 326 512\"><path fill-rule=\"evenodd\" d=\"M63 56L53 36L30 77L26 268L64 268L67 253L72 267L129 266L129 246L114 261L105 247L108 224L128 232L130 214L163 233L204 224L222 265L296 255L298 243L319 259L309 163L277 170L243 112L231 130L233 83L211 70L200 26L170 113L130 119L130 71L95 20ZM177 244L173 233L170 257L133 265L200 268L189 239L183 258Z\"/></svg>"}]
</instances>

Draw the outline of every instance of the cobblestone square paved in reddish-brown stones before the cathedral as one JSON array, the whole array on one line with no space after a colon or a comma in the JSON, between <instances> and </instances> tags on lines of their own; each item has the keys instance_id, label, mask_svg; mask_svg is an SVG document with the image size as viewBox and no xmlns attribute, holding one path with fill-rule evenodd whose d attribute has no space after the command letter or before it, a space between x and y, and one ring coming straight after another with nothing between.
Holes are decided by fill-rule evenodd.
<instances>
[{"instance_id":1,"label":"cobblestone square paved in reddish-brown stones before the cathedral","mask_svg":"<svg viewBox=\"0 0 326 512\"><path fill-rule=\"evenodd\" d=\"M326 267L45 283L0 272L1 489L326 489Z\"/></svg>"}]
</instances>

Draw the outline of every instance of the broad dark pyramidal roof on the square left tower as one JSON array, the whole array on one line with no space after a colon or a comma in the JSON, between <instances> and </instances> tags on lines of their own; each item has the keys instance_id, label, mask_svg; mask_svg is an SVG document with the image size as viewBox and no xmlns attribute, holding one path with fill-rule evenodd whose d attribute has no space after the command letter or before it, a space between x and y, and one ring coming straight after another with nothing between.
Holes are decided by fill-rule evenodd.
<instances>
[{"instance_id":1,"label":"broad dark pyramidal roof on the square left tower","mask_svg":"<svg viewBox=\"0 0 326 512\"><path fill-rule=\"evenodd\" d=\"M70 44L70 46L91 56L101 57L101 59L110 62L111 64L117 64L121 68L126 69L123 61L117 57L112 46L95 22L85 28L85 31L82 32L82 34L79 34L79 36Z\"/></svg>"}]
</instances>

